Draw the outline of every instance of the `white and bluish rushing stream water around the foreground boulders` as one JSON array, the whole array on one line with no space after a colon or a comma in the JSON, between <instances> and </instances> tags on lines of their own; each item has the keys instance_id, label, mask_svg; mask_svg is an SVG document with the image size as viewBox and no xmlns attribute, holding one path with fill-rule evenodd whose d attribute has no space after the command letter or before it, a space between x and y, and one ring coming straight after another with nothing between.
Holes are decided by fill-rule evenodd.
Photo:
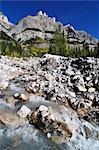
<instances>
[{"instance_id":1,"label":"white and bluish rushing stream water around the foreground boulders","mask_svg":"<svg viewBox=\"0 0 99 150\"><path fill-rule=\"evenodd\" d=\"M18 88L12 82L10 87L0 94L0 110L10 109L15 112L23 105L23 103L12 106L5 102L5 98L15 93L24 92L24 88ZM36 101L35 101L36 100ZM25 103L30 109L35 109L41 104L57 108L57 104L44 100L39 96L30 96L30 102ZM91 146L91 147L90 147ZM0 125L0 150L99 150L99 141L85 139L77 135L71 139L71 142L64 144L56 144L48 139L45 134L37 130L33 125L25 123L24 126L7 127Z\"/></svg>"}]
</instances>

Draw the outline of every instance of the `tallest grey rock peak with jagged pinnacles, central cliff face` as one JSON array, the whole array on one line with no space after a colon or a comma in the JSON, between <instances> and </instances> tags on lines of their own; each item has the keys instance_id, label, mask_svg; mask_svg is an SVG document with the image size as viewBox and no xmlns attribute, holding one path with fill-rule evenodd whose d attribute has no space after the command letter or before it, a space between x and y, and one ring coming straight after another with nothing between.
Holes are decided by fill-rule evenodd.
<instances>
[{"instance_id":1,"label":"tallest grey rock peak with jagged pinnacles, central cliff face","mask_svg":"<svg viewBox=\"0 0 99 150\"><path fill-rule=\"evenodd\" d=\"M12 35L18 40L22 41L35 38L36 36L45 39L52 38L52 33L55 32L57 24L46 13L38 12L36 16L27 16L19 21L10 30Z\"/></svg>"}]
</instances>

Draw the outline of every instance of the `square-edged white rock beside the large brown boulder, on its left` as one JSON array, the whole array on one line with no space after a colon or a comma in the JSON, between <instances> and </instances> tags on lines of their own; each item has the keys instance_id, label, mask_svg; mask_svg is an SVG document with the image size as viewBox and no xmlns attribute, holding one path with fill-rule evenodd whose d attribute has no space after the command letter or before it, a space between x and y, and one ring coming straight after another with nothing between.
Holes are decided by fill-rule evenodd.
<instances>
[{"instance_id":1,"label":"square-edged white rock beside the large brown boulder, on its left","mask_svg":"<svg viewBox=\"0 0 99 150\"><path fill-rule=\"evenodd\" d=\"M21 118L26 118L30 113L31 113L31 110L28 107L26 107L25 105L23 105L21 107L21 109L17 112L17 114Z\"/></svg>"}]
</instances>

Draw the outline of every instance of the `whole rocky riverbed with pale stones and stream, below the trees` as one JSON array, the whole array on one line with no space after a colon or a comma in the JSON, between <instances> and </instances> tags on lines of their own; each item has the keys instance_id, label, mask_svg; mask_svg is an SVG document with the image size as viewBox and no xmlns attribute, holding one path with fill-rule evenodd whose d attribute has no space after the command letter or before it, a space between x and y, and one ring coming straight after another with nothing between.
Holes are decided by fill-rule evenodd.
<instances>
[{"instance_id":1,"label":"whole rocky riverbed with pale stones and stream, below the trees","mask_svg":"<svg viewBox=\"0 0 99 150\"><path fill-rule=\"evenodd\" d=\"M0 57L0 150L98 150L99 59Z\"/></svg>"}]
</instances>

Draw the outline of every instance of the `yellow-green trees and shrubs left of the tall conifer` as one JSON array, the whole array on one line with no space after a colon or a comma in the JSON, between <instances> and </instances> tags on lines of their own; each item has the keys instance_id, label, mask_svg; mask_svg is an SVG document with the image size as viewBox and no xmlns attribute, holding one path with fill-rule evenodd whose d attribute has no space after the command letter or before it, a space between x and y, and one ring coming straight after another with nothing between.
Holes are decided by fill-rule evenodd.
<instances>
[{"instance_id":1,"label":"yellow-green trees and shrubs left of the tall conifer","mask_svg":"<svg viewBox=\"0 0 99 150\"><path fill-rule=\"evenodd\" d=\"M0 55L7 55L11 57L30 57L42 56L48 52L48 48L39 48L35 44L42 44L46 42L43 39L36 37L26 42L13 40L4 32L0 34Z\"/></svg>"}]
</instances>

